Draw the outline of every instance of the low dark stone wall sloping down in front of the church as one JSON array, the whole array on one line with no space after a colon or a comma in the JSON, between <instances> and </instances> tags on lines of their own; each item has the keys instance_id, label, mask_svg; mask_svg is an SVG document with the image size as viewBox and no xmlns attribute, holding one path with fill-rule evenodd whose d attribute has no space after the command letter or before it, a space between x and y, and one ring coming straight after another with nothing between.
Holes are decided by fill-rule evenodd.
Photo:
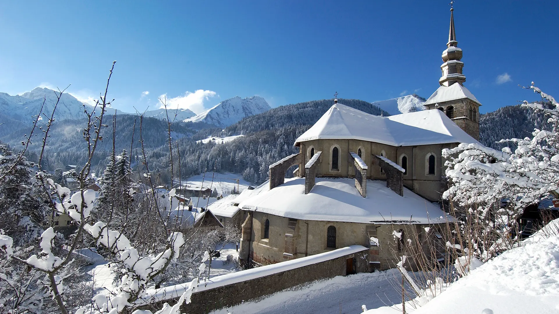
<instances>
[{"instance_id":1,"label":"low dark stone wall sloping down in front of the church","mask_svg":"<svg viewBox=\"0 0 559 314\"><path fill-rule=\"evenodd\" d=\"M361 245L356 245L344 249L349 249L357 246L360 247L358 248L359 251L357 252L355 250L349 251L349 254L338 256L336 258L325 261L320 261L319 263L312 263L309 265L304 265L302 267L283 270L282 272L244 280L238 283L195 292L192 294L191 303L183 304L181 306L181 312L186 312L189 314L205 314L215 310L219 310L220 308L239 305L242 302L247 302L253 299L264 297L268 294L276 293L282 291L283 289L299 286L301 284L312 282L314 280L333 278L338 275L347 275L347 260L350 258L353 258L352 273L369 272L367 248ZM332 253L334 251L328 253ZM307 257L310 258L313 256L316 255ZM278 265L279 267L281 266L280 264L293 263L296 260L284 261L273 265ZM203 285L204 282L201 282L198 289L203 289ZM179 295L180 293L182 293L181 291L178 292ZM141 309L155 310L161 308L163 306L163 303L165 302L173 305L177 302L177 300L178 297L175 297L174 299L167 299L165 301L150 302L150 305L141 307Z\"/></svg>"}]
</instances>

